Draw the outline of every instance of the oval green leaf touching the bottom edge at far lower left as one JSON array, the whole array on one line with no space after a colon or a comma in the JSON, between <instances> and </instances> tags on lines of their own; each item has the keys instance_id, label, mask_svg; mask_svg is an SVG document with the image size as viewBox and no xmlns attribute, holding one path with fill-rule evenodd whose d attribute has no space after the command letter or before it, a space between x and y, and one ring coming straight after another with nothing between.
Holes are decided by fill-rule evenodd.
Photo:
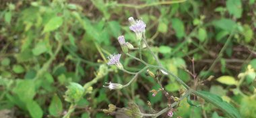
<instances>
[{"instance_id":1,"label":"oval green leaf touching the bottom edge at far lower left","mask_svg":"<svg viewBox=\"0 0 256 118\"><path fill-rule=\"evenodd\" d=\"M36 101L28 102L26 104L26 107L27 107L28 112L30 113L31 117L33 117L33 118L40 118L40 117L42 117L42 115L43 115L42 109L38 105L38 103L36 103Z\"/></svg>"}]
</instances>

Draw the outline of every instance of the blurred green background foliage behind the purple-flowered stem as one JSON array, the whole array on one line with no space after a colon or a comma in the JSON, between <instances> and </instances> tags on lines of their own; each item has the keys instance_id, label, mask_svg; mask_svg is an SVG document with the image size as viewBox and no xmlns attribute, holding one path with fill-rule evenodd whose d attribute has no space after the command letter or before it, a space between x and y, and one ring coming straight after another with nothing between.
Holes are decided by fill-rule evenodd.
<instances>
[{"instance_id":1,"label":"blurred green background foliage behind the purple-flowered stem","mask_svg":"<svg viewBox=\"0 0 256 118\"><path fill-rule=\"evenodd\" d=\"M106 66L108 54L121 53L118 36L135 44L127 20L131 16L146 22L147 41L168 70L197 90L218 95L243 117L255 117L255 1L171 3L1 1L0 117L4 112L15 117L63 117L72 102L77 106L71 117L110 117L100 109L110 103L126 107L129 101L146 112L150 112L146 101L156 111L166 107L162 94L152 97L150 90L159 86L145 74L120 91L102 87L104 82L131 79ZM155 63L149 52L143 52L143 57ZM195 80L188 72L193 70L192 58L198 74ZM121 62L131 71L142 67L124 55ZM164 76L161 82L173 96L179 96L182 86L174 78ZM226 116L196 100L201 107L181 101L174 117Z\"/></svg>"}]
</instances>

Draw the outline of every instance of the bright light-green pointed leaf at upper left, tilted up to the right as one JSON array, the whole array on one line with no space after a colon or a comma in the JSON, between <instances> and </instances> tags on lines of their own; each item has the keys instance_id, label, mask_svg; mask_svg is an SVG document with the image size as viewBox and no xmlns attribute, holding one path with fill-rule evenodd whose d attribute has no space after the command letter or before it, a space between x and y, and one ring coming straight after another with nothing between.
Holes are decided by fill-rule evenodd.
<instances>
[{"instance_id":1,"label":"bright light-green pointed leaf at upper left, tilted up to the right","mask_svg":"<svg viewBox=\"0 0 256 118\"><path fill-rule=\"evenodd\" d=\"M51 31L54 31L55 29L58 29L59 27L61 27L62 23L63 23L62 17L58 17L58 16L52 17L50 21L46 23L46 25L44 25L43 33L51 32Z\"/></svg>"}]
</instances>

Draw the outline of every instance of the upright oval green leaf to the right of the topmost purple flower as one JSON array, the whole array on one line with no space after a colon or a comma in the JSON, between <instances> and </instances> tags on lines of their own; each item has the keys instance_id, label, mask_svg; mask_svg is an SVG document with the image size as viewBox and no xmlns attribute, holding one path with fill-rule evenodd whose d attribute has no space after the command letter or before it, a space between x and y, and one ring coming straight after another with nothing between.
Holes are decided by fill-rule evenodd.
<instances>
[{"instance_id":1,"label":"upright oval green leaf to the right of the topmost purple flower","mask_svg":"<svg viewBox=\"0 0 256 118\"><path fill-rule=\"evenodd\" d=\"M185 27L181 19L178 19L178 18L172 19L172 27L176 32L176 36L179 40L183 38L183 36L185 36Z\"/></svg>"}]
</instances>

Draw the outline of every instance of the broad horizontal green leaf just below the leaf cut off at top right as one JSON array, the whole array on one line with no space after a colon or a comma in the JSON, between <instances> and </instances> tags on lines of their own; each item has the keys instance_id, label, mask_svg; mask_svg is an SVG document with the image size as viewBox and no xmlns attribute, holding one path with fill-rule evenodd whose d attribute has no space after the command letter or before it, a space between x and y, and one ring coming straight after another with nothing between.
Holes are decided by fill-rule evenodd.
<instances>
[{"instance_id":1,"label":"broad horizontal green leaf just below the leaf cut off at top right","mask_svg":"<svg viewBox=\"0 0 256 118\"><path fill-rule=\"evenodd\" d=\"M236 23L234 21L232 21L231 19L222 18L222 19L214 20L212 23L216 27L224 29L228 32L232 32L234 30L234 28L236 28Z\"/></svg>"}]
</instances>

